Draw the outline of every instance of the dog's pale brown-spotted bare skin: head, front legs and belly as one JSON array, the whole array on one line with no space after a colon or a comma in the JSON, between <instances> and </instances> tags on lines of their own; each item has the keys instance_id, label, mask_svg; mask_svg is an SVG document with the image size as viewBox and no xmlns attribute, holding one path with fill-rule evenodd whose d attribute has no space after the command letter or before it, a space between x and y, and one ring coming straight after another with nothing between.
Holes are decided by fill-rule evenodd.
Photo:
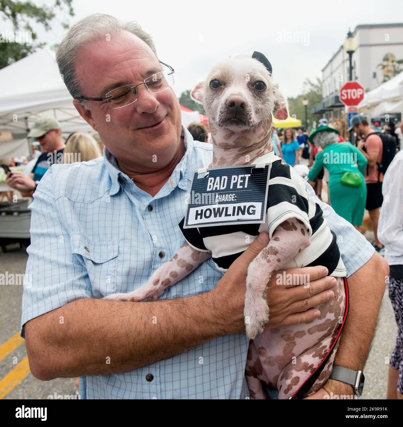
<instances>
[{"instance_id":1,"label":"dog's pale brown-spotted bare skin: head, front legs and belly","mask_svg":"<svg viewBox=\"0 0 403 427\"><path fill-rule=\"evenodd\" d=\"M209 87L212 79L220 79L225 85L215 90ZM264 95L250 88L250 82L256 79L266 83ZM271 83L266 68L252 58L230 58L217 64L206 82L194 88L192 97L203 104L209 116L213 140L213 159L209 167L252 164L258 157L273 151L272 113L280 120L288 115L284 97ZM232 105L234 102L236 109ZM234 116L239 118L235 124L229 120ZM246 332L254 339L249 345L245 373L252 399L268 398L262 383L278 389L279 398L293 395L324 359L339 331L345 309L342 278L337 278L337 289L333 288L335 296L319 306L321 315L318 318L258 333L269 319L265 296L271 275L284 269L309 244L304 224L299 219L288 219L278 225L267 247L249 265L244 316ZM156 299L210 257L210 253L196 251L185 243L145 285L128 294L108 295L105 299ZM335 354L336 348L307 395L319 390L328 380Z\"/></svg>"}]
</instances>

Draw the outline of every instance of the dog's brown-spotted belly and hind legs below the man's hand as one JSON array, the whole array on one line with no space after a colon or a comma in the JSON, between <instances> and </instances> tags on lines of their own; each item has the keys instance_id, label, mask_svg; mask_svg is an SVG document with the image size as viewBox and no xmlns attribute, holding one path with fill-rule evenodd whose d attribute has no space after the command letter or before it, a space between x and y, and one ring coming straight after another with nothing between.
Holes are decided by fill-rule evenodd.
<instances>
[{"instance_id":1,"label":"dog's brown-spotted belly and hind legs below the man's hand","mask_svg":"<svg viewBox=\"0 0 403 427\"><path fill-rule=\"evenodd\" d=\"M268 399L262 383L279 390L279 399L288 399L315 371L336 339L345 310L343 278L333 288L335 296L318 306L320 316L310 322L265 330L249 345L246 380L252 399ZM336 344L325 368L307 396L328 380Z\"/></svg>"}]
</instances>

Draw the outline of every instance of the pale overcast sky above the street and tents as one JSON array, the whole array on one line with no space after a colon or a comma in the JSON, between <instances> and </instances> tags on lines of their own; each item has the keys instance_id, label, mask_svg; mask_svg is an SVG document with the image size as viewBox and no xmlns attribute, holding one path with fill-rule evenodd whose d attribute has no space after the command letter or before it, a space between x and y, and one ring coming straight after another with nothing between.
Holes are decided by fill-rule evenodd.
<instances>
[{"instance_id":1,"label":"pale overcast sky above the street and tents","mask_svg":"<svg viewBox=\"0 0 403 427\"><path fill-rule=\"evenodd\" d=\"M33 1L54 4L54 0ZM403 21L401 0L73 0L72 4L71 24L92 13L138 21L154 37L159 59L174 67L178 96L204 80L220 59L257 50L271 62L281 91L293 97L302 92L304 79L322 77L322 68L349 27ZM64 30L58 23L65 18L59 13L52 30L38 31L39 39L49 45L60 42ZM293 32L302 32L303 40L281 40Z\"/></svg>"}]
</instances>

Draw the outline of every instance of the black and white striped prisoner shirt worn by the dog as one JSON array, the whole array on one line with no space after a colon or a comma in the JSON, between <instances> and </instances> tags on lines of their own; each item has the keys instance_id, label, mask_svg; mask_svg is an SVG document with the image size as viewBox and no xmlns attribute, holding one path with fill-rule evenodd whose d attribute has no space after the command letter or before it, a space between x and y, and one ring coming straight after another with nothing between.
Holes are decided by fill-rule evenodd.
<instances>
[{"instance_id":1,"label":"black and white striped prisoner shirt worn by the dog","mask_svg":"<svg viewBox=\"0 0 403 427\"><path fill-rule=\"evenodd\" d=\"M212 258L220 272L226 272L258 236L268 231L270 239L275 228L286 219L296 218L304 222L311 244L299 253L284 269L322 265L329 275L345 277L345 266L340 257L336 235L322 217L322 209L310 200L301 178L284 160L265 154L253 164L271 163L267 197L266 220L262 224L236 224L214 227L183 228L185 218L179 224L186 241L201 252L212 252Z\"/></svg>"}]
</instances>

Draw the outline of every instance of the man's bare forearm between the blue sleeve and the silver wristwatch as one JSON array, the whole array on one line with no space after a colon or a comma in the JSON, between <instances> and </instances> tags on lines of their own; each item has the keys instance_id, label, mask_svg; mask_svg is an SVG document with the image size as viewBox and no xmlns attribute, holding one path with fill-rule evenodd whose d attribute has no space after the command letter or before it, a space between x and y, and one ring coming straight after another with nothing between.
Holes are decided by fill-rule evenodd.
<instances>
[{"instance_id":1,"label":"man's bare forearm between the blue sleeve and the silver wristwatch","mask_svg":"<svg viewBox=\"0 0 403 427\"><path fill-rule=\"evenodd\" d=\"M375 253L348 278L350 310L334 365L355 371L363 369L377 326L388 275L388 263Z\"/></svg>"}]
</instances>

